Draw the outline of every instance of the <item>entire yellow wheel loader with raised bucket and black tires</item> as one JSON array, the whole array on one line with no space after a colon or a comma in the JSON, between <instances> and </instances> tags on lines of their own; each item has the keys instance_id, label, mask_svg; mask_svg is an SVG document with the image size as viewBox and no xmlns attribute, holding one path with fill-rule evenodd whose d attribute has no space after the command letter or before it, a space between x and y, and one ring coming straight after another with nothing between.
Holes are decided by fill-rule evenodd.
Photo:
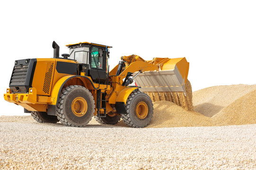
<instances>
[{"instance_id":1,"label":"entire yellow wheel loader with raised bucket and black tires","mask_svg":"<svg viewBox=\"0 0 256 170\"><path fill-rule=\"evenodd\" d=\"M114 125L122 118L129 127L146 127L157 95L159 100L174 99L172 93L186 96L185 58L147 61L138 55L122 56L109 70L111 46L66 46L69 54L62 57L53 42L53 58L16 60L4 99L24 107L40 123L84 127L94 116L101 124Z\"/></svg>"}]
</instances>

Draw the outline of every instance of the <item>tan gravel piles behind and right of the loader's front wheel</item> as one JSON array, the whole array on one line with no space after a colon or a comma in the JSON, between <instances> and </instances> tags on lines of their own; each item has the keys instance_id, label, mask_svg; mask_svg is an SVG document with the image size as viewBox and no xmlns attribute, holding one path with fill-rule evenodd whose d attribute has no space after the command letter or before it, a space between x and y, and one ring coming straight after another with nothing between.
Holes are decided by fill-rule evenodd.
<instances>
[{"instance_id":1,"label":"tan gravel piles behind and right of the loader's front wheel","mask_svg":"<svg viewBox=\"0 0 256 170\"><path fill-rule=\"evenodd\" d=\"M192 96L192 95L191 95ZM256 123L256 85L220 85L193 92L194 111L157 101L148 127L226 126ZM97 124L95 120L91 124ZM121 120L117 125L126 127Z\"/></svg>"}]
</instances>

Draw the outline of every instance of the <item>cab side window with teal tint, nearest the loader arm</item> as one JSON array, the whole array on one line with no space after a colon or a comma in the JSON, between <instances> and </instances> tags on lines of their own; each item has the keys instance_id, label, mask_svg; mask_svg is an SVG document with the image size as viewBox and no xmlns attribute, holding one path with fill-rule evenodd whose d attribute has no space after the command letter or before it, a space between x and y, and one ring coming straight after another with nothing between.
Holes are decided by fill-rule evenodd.
<instances>
[{"instance_id":1,"label":"cab side window with teal tint, nearest the loader arm","mask_svg":"<svg viewBox=\"0 0 256 170\"><path fill-rule=\"evenodd\" d=\"M103 51L98 47L92 47L91 50L91 67L92 68L103 68Z\"/></svg>"}]
</instances>

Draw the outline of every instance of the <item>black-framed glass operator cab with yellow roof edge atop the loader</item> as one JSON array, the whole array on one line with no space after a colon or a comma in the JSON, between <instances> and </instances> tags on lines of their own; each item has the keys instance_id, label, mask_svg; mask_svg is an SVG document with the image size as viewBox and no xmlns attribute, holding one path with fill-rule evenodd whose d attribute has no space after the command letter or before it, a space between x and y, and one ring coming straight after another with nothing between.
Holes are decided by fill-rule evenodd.
<instances>
[{"instance_id":1,"label":"black-framed glass operator cab with yellow roof edge atop the loader","mask_svg":"<svg viewBox=\"0 0 256 170\"><path fill-rule=\"evenodd\" d=\"M74 59L79 63L79 75L84 73L85 76L90 76L95 83L107 83L109 48L112 47L90 42L66 46L70 49L69 59Z\"/></svg>"}]
</instances>

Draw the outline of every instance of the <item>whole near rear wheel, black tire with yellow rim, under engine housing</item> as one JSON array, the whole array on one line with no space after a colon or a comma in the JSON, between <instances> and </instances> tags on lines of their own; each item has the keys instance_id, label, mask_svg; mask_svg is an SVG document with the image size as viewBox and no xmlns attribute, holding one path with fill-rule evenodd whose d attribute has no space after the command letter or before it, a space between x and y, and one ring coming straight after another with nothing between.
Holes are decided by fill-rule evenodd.
<instances>
[{"instance_id":1,"label":"whole near rear wheel, black tire with yellow rim, under engine housing","mask_svg":"<svg viewBox=\"0 0 256 170\"><path fill-rule=\"evenodd\" d=\"M80 85L62 89L57 104L57 117L63 125L84 127L95 112L95 102L89 90Z\"/></svg>"}]
</instances>

